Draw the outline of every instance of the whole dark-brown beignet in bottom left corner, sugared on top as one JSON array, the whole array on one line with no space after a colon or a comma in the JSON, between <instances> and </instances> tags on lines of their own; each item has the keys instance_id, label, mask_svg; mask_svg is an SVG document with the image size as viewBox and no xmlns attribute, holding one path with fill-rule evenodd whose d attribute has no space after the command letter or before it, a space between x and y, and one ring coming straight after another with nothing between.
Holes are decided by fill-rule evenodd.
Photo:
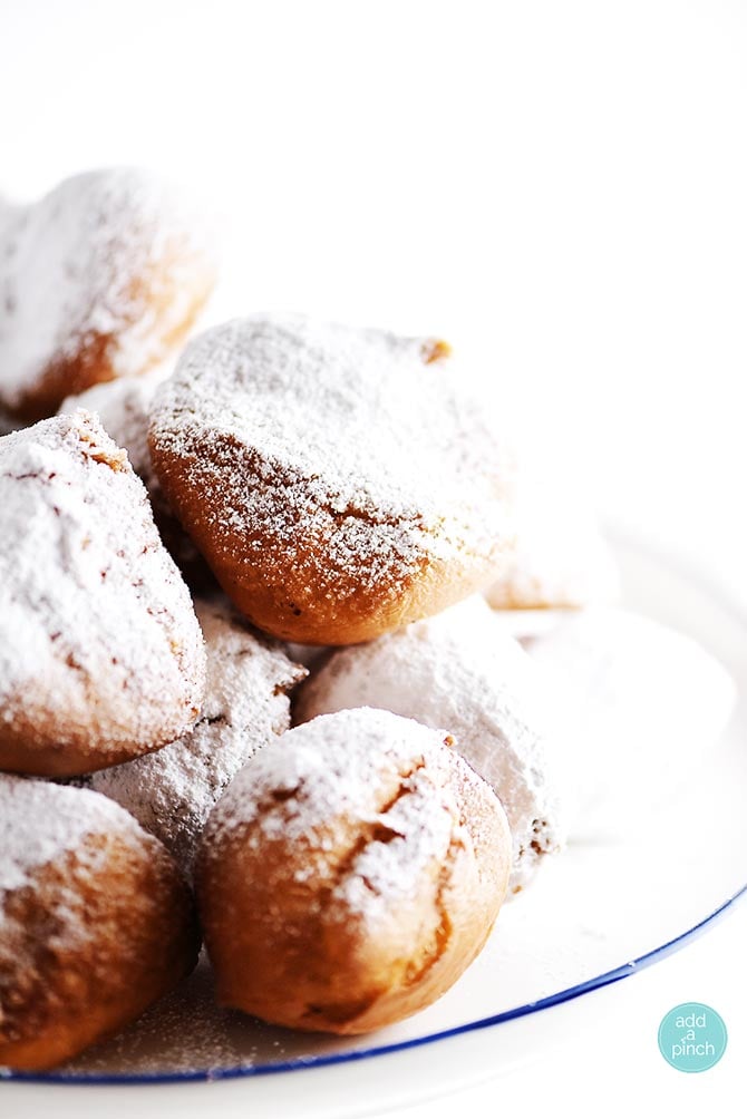
<instances>
[{"instance_id":1,"label":"whole dark-brown beignet in bottom left corner, sugared on top","mask_svg":"<svg viewBox=\"0 0 747 1119\"><path fill-rule=\"evenodd\" d=\"M198 947L181 874L124 809L0 775L0 1065L49 1069L115 1033Z\"/></svg>"}]
</instances>

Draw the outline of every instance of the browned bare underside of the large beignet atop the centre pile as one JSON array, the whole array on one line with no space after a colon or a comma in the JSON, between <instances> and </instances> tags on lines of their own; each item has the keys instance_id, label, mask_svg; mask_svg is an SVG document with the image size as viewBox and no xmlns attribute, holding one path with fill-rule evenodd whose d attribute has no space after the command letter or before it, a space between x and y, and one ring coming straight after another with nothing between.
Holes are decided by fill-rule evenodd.
<instances>
[{"instance_id":1,"label":"browned bare underside of the large beignet atop the centre pile","mask_svg":"<svg viewBox=\"0 0 747 1119\"><path fill-rule=\"evenodd\" d=\"M446 610L484 586L495 570L497 546L489 557L464 552L441 560L423 552L417 571L399 570L395 583L349 570L335 572L332 580L325 567L328 542L320 544L302 524L293 532L289 563L273 526L263 532L261 523L222 519L216 515L220 499L205 500L206 487L209 492L216 479L236 485L227 471L234 479L246 478L248 486L262 485L262 478L267 482L268 467L233 435L215 432L198 450L176 453L151 432L150 451L170 507L225 593L254 626L281 640L328 646L370 641ZM333 511L328 519L332 536Z\"/></svg>"}]
</instances>

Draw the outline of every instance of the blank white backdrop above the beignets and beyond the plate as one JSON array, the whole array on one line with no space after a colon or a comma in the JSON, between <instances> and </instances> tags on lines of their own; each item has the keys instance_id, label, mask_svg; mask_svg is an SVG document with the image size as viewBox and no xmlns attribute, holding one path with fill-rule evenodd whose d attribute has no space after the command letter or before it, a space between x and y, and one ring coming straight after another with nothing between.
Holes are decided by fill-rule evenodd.
<instances>
[{"instance_id":1,"label":"blank white backdrop above the beignets and beyond the plate","mask_svg":"<svg viewBox=\"0 0 747 1119\"><path fill-rule=\"evenodd\" d=\"M0 0L0 188L186 180L233 309L451 339L604 511L744 593L746 55L736 0ZM648 1031L698 998L739 1034L737 928L661 965L671 990L619 985L582 1051L420 1115L592 1115L644 1083L716 1103L736 1044L731 1072L678 1080Z\"/></svg>"}]
</instances>

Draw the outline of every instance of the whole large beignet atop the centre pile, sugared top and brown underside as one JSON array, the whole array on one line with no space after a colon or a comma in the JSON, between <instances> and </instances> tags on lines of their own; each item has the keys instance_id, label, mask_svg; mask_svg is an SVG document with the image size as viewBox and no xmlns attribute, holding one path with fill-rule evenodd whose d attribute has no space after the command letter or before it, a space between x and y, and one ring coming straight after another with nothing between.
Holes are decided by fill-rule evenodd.
<instances>
[{"instance_id":1,"label":"whole large beignet atop the centre pile, sugared top and brown underside","mask_svg":"<svg viewBox=\"0 0 747 1119\"><path fill-rule=\"evenodd\" d=\"M371 617L433 612L513 540L505 449L433 339L299 316L224 323L158 391L150 439L224 587L278 637L345 643Z\"/></svg>"}]
</instances>

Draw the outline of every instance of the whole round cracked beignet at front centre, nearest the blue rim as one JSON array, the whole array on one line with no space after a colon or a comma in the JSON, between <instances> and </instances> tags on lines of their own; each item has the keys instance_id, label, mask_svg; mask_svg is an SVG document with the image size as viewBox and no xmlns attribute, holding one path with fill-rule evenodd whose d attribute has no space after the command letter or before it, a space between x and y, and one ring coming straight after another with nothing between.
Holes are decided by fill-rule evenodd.
<instances>
[{"instance_id":1,"label":"whole round cracked beignet at front centre, nearest the blue rim","mask_svg":"<svg viewBox=\"0 0 747 1119\"><path fill-rule=\"evenodd\" d=\"M354 1034L455 982L505 896L511 839L452 745L364 707L296 727L249 762L196 866L224 1005Z\"/></svg>"}]
</instances>

